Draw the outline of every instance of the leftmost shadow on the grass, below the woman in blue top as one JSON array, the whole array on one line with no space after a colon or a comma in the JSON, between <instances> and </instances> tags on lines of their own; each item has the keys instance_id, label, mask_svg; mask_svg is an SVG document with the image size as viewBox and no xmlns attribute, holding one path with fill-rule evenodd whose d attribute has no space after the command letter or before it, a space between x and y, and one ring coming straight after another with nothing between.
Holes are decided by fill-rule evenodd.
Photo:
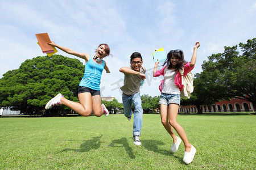
<instances>
[{"instance_id":1,"label":"leftmost shadow on the grass, below the woman in blue top","mask_svg":"<svg viewBox=\"0 0 256 170\"><path fill-rule=\"evenodd\" d=\"M75 151L75 152L89 152L90 150L97 150L101 146L101 137L93 137L93 139L86 140L80 145L79 149L65 148L60 152Z\"/></svg>"}]
</instances>

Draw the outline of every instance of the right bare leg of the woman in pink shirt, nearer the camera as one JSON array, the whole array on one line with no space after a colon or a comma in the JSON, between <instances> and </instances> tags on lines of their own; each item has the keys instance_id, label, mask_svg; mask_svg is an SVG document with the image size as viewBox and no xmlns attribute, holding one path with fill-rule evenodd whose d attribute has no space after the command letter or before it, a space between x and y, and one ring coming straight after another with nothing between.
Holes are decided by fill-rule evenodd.
<instances>
[{"instance_id":1,"label":"right bare leg of the woman in pink shirt, nearer the camera","mask_svg":"<svg viewBox=\"0 0 256 170\"><path fill-rule=\"evenodd\" d=\"M190 152L191 144L188 142L188 138L187 138L187 135L185 134L184 129L180 126L180 124L177 123L177 120L176 120L178 111L179 111L179 104L174 104L174 103L169 104L169 107L168 107L169 122L171 126L174 127L174 129L177 131L180 138L182 139L185 146L185 151Z\"/></svg>"}]
</instances>

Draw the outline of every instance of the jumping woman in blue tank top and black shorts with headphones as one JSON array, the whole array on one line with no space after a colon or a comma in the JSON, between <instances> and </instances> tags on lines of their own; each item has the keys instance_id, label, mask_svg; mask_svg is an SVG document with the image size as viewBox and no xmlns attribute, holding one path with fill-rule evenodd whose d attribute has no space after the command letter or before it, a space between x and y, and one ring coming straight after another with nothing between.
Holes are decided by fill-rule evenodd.
<instances>
[{"instance_id":1,"label":"jumping woman in blue tank top and black shorts with headphones","mask_svg":"<svg viewBox=\"0 0 256 170\"><path fill-rule=\"evenodd\" d=\"M109 115L108 109L104 104L101 104L100 96L100 82L103 69L106 73L110 73L104 57L110 55L110 48L108 44L100 44L95 51L94 56L86 53L75 52L72 49L55 44L55 42L48 43L55 46L64 52L85 59L84 77L79 84L78 97L80 103L65 99L61 94L56 95L46 104L46 109L52 108L55 105L67 105L73 111L81 114L81 116L89 116L92 112L95 116L100 117L104 113Z\"/></svg>"}]
</instances>

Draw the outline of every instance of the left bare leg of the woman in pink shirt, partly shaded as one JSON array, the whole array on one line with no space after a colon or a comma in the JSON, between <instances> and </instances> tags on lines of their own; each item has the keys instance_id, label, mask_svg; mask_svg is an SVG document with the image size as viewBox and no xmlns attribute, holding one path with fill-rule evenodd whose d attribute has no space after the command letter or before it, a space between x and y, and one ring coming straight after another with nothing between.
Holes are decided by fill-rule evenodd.
<instances>
[{"instance_id":1,"label":"left bare leg of the woman in pink shirt, partly shaded","mask_svg":"<svg viewBox=\"0 0 256 170\"><path fill-rule=\"evenodd\" d=\"M171 124L168 122L168 106L164 104L160 104L160 114L161 114L161 121L166 129L166 131L171 135L172 139L174 139L174 143L177 141L177 137L174 133L174 129L172 128Z\"/></svg>"}]
</instances>

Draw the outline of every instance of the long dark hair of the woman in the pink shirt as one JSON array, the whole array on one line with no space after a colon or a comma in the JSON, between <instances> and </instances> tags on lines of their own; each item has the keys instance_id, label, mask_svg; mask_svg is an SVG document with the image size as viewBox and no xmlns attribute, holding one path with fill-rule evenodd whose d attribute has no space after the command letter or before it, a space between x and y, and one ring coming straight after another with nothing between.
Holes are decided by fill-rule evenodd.
<instances>
[{"instance_id":1,"label":"long dark hair of the woman in the pink shirt","mask_svg":"<svg viewBox=\"0 0 256 170\"><path fill-rule=\"evenodd\" d=\"M170 52L167 54L166 61L164 61L162 66L167 65L168 69L172 67L172 63L171 63L172 55L174 55L175 58L180 59L180 61L177 63L175 71L179 70L180 68L183 68L184 63L186 63L186 61L184 59L184 54L182 50L170 50Z\"/></svg>"}]
</instances>

